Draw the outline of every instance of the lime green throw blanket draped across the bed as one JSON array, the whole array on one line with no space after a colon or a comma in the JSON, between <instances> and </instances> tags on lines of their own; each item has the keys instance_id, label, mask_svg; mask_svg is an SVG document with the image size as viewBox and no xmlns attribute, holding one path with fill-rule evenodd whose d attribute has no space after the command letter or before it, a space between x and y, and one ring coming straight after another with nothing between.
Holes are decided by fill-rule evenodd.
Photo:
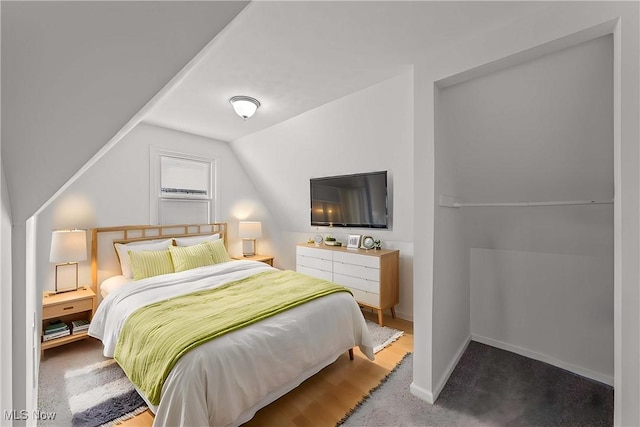
<instances>
[{"instance_id":1,"label":"lime green throw blanket draped across the bed","mask_svg":"<svg viewBox=\"0 0 640 427\"><path fill-rule=\"evenodd\" d=\"M336 292L350 291L293 271L267 271L153 303L125 321L114 358L149 402L157 405L169 372L189 350Z\"/></svg>"}]
</instances>

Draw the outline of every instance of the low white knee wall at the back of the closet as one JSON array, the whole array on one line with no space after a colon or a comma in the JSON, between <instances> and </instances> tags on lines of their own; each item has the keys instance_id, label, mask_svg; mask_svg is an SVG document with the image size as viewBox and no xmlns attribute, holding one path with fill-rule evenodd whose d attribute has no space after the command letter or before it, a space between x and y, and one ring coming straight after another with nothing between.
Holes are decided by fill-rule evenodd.
<instances>
[{"instance_id":1,"label":"low white knee wall at the back of the closet","mask_svg":"<svg viewBox=\"0 0 640 427\"><path fill-rule=\"evenodd\" d=\"M471 249L470 270L474 340L613 385L611 259Z\"/></svg>"}]
</instances>

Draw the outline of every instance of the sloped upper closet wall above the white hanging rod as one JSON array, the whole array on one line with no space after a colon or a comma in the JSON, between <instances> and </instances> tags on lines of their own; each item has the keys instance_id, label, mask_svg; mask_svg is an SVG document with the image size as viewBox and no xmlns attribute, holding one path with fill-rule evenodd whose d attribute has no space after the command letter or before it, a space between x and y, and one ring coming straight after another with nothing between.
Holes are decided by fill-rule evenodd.
<instances>
[{"instance_id":1,"label":"sloped upper closet wall above the white hanging rod","mask_svg":"<svg viewBox=\"0 0 640 427\"><path fill-rule=\"evenodd\" d=\"M611 35L446 87L437 108L461 201L613 199Z\"/></svg>"}]
</instances>

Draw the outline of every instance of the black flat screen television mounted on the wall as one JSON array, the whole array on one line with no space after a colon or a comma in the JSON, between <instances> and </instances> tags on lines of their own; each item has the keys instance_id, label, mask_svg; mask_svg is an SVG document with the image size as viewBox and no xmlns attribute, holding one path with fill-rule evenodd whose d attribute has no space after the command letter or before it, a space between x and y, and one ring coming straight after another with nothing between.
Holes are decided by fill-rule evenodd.
<instances>
[{"instance_id":1,"label":"black flat screen television mounted on the wall","mask_svg":"<svg viewBox=\"0 0 640 427\"><path fill-rule=\"evenodd\" d=\"M311 178L311 225L389 228L387 171Z\"/></svg>"}]
</instances>

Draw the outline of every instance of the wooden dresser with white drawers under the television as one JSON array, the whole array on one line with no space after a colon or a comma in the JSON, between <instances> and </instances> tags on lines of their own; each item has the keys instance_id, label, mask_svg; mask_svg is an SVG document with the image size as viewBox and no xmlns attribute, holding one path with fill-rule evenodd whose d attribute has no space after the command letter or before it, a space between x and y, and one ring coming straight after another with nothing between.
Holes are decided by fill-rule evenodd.
<instances>
[{"instance_id":1,"label":"wooden dresser with white drawers under the television","mask_svg":"<svg viewBox=\"0 0 640 427\"><path fill-rule=\"evenodd\" d=\"M347 249L342 246L300 244L296 248L296 271L343 285L363 307L378 312L391 309L399 297L398 250Z\"/></svg>"}]
</instances>

